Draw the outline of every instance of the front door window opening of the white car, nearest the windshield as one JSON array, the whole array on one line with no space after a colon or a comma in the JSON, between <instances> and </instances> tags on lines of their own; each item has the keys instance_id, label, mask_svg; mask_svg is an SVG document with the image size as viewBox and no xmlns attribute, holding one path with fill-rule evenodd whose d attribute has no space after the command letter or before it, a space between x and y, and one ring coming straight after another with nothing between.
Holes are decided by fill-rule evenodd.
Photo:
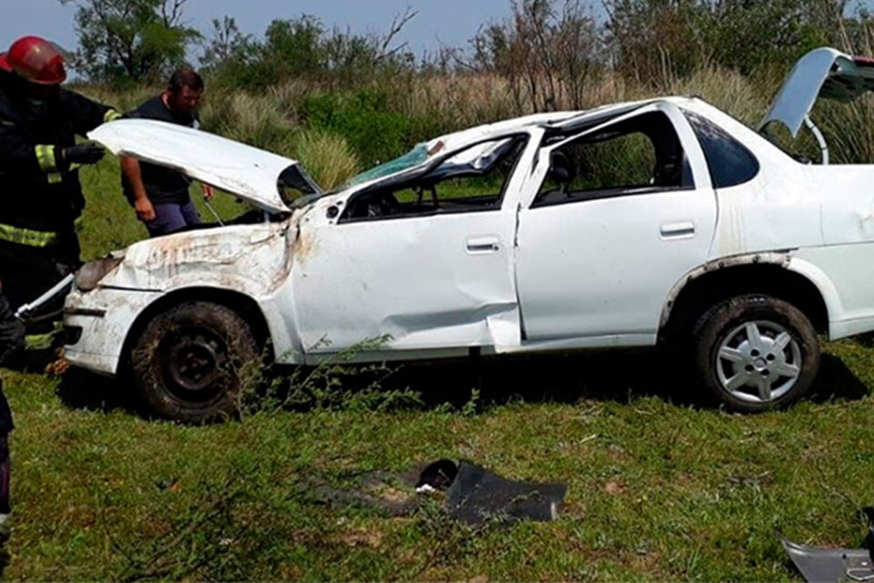
<instances>
[{"instance_id":1,"label":"front door window opening of the white car, nearest the windshield","mask_svg":"<svg viewBox=\"0 0 874 583\"><path fill-rule=\"evenodd\" d=\"M341 220L380 220L497 210L526 138L476 144L423 177L363 191Z\"/></svg>"}]
</instances>

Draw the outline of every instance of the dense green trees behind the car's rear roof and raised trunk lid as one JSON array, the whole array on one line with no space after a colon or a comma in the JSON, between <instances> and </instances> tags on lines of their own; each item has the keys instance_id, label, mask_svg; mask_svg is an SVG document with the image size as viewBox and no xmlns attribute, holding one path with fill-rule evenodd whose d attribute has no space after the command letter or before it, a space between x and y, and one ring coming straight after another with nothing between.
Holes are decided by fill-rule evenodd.
<instances>
[{"instance_id":1,"label":"dense green trees behind the car's rear roof and raised trunk lid","mask_svg":"<svg viewBox=\"0 0 874 583\"><path fill-rule=\"evenodd\" d=\"M626 78L661 84L716 64L768 77L817 46L852 44L847 0L604 0L607 43ZM854 29L855 30L855 29Z\"/></svg>"}]
</instances>

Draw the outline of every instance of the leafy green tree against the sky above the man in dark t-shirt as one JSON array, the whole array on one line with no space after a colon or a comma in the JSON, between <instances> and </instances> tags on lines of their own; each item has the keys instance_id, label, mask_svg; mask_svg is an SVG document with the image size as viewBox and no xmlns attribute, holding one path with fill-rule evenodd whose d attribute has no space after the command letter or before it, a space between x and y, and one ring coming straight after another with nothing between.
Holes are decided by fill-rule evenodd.
<instances>
[{"instance_id":1,"label":"leafy green tree against the sky above the man in dark t-shirt","mask_svg":"<svg viewBox=\"0 0 874 583\"><path fill-rule=\"evenodd\" d=\"M156 82L199 37L182 23L187 0L58 1L78 6L73 66L94 81Z\"/></svg>"}]
</instances>

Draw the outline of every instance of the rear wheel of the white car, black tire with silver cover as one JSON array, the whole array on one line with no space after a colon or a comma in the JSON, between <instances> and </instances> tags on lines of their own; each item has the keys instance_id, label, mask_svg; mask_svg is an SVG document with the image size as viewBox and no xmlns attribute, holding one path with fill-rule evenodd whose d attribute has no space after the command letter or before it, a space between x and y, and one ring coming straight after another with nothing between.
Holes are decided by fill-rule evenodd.
<instances>
[{"instance_id":1,"label":"rear wheel of the white car, black tire with silver cover","mask_svg":"<svg viewBox=\"0 0 874 583\"><path fill-rule=\"evenodd\" d=\"M754 337L758 340L749 340ZM698 383L717 404L738 413L795 403L819 369L819 342L807 316L767 295L716 304L698 319L691 343Z\"/></svg>"}]
</instances>

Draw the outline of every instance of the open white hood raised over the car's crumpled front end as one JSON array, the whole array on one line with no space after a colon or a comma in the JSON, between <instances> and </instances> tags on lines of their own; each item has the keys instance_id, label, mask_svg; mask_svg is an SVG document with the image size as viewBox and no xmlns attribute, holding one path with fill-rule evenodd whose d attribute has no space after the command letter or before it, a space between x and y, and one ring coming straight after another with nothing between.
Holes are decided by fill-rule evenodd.
<instances>
[{"instance_id":1,"label":"open white hood raised over the car's crumpled front end","mask_svg":"<svg viewBox=\"0 0 874 583\"><path fill-rule=\"evenodd\" d=\"M297 161L198 129L151 119L119 119L88 138L117 156L131 156L177 169L263 210L290 211L279 185L319 193Z\"/></svg>"}]
</instances>

